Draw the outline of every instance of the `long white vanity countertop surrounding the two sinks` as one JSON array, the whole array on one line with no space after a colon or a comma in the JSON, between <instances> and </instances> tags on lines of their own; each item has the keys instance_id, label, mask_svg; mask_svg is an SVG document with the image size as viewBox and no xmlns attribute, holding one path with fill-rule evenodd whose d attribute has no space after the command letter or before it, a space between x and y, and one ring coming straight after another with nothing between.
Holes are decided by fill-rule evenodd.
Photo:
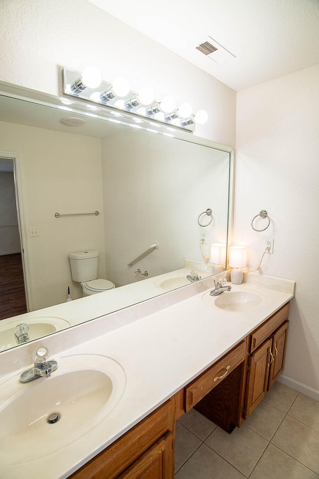
<instances>
[{"instance_id":1,"label":"long white vanity countertop surrounding the two sinks","mask_svg":"<svg viewBox=\"0 0 319 479\"><path fill-rule=\"evenodd\" d=\"M126 374L124 394L105 420L64 449L37 461L7 468L1 466L0 459L0 477L37 479L42 478L45 471L46 479L67 478L216 362L294 295L293 281L267 276L263 279L261 275L255 275L255 279L254 275L246 276L248 282L232 285L232 290L255 291L266 296L266 304L256 310L225 311L213 304L214 297L209 298L211 305L208 304L209 301L203 302L202 291L158 312L82 342L63 351L59 356L50 355L50 359L57 362L59 357L74 354L91 353L113 358ZM250 281L266 284L268 287L256 286ZM206 291L210 290L211 287ZM103 320L104 318L98 318L94 321ZM42 341L44 345L48 338ZM21 370L18 371L20 372ZM12 373L9 376L12 376ZM2 376L1 382L7 377ZM49 380L50 378L45 379ZM36 381L42 381L42 378ZM5 397L4 389L3 386L0 387L0 405ZM43 440L45 441L45 438Z\"/></svg>"}]
</instances>

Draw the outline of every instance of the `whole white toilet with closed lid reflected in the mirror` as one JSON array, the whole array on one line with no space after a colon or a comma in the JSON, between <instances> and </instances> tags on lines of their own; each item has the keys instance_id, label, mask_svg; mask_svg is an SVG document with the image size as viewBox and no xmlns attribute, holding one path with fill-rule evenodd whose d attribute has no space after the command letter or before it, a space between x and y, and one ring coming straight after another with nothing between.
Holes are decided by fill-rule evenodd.
<instances>
[{"instance_id":1,"label":"whole white toilet with closed lid reflected in the mirror","mask_svg":"<svg viewBox=\"0 0 319 479\"><path fill-rule=\"evenodd\" d=\"M99 254L96 249L69 254L72 279L82 285L83 297L115 288L108 279L97 279Z\"/></svg>"}]
</instances>

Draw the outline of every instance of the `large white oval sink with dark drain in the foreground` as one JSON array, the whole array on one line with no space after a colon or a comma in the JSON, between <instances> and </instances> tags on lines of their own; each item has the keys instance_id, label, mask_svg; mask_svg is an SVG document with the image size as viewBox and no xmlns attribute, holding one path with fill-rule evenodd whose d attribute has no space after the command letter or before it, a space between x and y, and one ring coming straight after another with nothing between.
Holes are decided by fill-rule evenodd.
<instances>
[{"instance_id":1,"label":"large white oval sink with dark drain in the foreground","mask_svg":"<svg viewBox=\"0 0 319 479\"><path fill-rule=\"evenodd\" d=\"M2 466L63 449L94 429L123 395L125 372L113 359L94 354L54 359L58 369L49 378L22 384L15 375L0 385L7 398L0 407ZM60 419L48 424L52 413Z\"/></svg>"}]
</instances>

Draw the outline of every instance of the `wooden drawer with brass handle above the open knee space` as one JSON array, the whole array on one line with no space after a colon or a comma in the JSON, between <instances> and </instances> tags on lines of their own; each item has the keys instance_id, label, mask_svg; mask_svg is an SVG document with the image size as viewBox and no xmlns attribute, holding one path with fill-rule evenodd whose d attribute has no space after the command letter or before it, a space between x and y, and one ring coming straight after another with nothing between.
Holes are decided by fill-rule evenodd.
<instances>
[{"instance_id":1,"label":"wooden drawer with brass handle above the open knee space","mask_svg":"<svg viewBox=\"0 0 319 479\"><path fill-rule=\"evenodd\" d=\"M187 413L206 394L208 394L223 378L231 373L242 361L245 360L246 341L241 341L234 349L229 351L217 363L206 369L201 376L184 388L184 409Z\"/></svg>"}]
</instances>

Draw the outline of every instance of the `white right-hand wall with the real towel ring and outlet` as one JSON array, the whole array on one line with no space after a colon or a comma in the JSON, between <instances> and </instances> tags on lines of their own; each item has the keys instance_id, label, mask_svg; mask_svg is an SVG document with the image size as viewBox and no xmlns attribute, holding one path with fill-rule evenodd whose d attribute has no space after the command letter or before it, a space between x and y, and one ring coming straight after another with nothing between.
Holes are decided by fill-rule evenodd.
<instances>
[{"instance_id":1,"label":"white right-hand wall with the real towel ring and outlet","mask_svg":"<svg viewBox=\"0 0 319 479\"><path fill-rule=\"evenodd\" d=\"M274 238L262 272L297 281L284 374L319 390L319 65L237 94L234 242L254 268ZM270 227L252 230L266 209ZM266 220L259 223L261 228Z\"/></svg>"}]
</instances>

